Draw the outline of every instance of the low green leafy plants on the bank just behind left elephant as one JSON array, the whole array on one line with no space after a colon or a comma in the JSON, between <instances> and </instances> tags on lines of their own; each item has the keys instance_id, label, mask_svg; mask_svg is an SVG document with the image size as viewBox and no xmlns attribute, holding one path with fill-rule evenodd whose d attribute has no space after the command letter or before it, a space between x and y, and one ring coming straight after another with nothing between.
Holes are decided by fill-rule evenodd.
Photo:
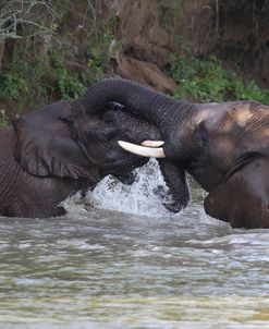
<instances>
[{"instance_id":1,"label":"low green leafy plants on the bank just behind left elephant","mask_svg":"<svg viewBox=\"0 0 269 329\"><path fill-rule=\"evenodd\" d=\"M61 49L49 49L46 61L14 51L10 69L0 74L0 97L17 102L17 115L25 107L35 109L54 98L77 98L90 81L105 74L105 60L93 56L88 65L75 71L68 68Z\"/></svg>"}]
</instances>

